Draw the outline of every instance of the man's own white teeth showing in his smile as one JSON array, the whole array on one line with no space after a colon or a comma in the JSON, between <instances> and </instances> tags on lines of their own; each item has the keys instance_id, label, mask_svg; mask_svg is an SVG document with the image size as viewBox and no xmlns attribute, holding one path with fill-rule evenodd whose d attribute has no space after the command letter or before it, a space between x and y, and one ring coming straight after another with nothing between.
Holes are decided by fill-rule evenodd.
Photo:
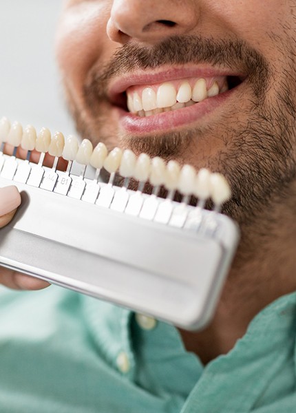
<instances>
[{"instance_id":1,"label":"man's own white teeth showing in his smile","mask_svg":"<svg viewBox=\"0 0 296 413\"><path fill-rule=\"evenodd\" d=\"M226 85L221 92L226 91ZM180 109L195 102L216 96L220 93L217 81L207 88L207 81L200 78L193 85L189 81L182 81L178 88L173 83L162 83L158 87L145 87L142 92L135 92L134 88L127 90L127 107L129 112L140 116L157 114L167 109Z\"/></svg>"}]
</instances>

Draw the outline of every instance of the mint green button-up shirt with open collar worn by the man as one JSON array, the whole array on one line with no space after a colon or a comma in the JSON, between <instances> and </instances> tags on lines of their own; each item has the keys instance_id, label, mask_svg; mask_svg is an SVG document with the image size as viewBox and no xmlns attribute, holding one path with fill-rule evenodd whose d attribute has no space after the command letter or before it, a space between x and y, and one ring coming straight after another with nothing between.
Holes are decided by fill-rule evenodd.
<instances>
[{"instance_id":1,"label":"mint green button-up shirt with open collar worn by the man","mask_svg":"<svg viewBox=\"0 0 296 413\"><path fill-rule=\"evenodd\" d=\"M168 324L55 286L0 288L0 412L296 412L295 333L293 293L204 368Z\"/></svg>"}]
</instances>

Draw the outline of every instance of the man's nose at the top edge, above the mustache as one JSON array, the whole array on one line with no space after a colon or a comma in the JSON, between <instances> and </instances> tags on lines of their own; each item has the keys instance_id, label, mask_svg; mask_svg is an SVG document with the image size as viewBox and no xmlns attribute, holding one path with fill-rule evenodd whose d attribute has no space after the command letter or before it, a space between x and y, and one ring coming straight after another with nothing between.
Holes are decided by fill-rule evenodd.
<instances>
[{"instance_id":1,"label":"man's nose at the top edge, above the mustache","mask_svg":"<svg viewBox=\"0 0 296 413\"><path fill-rule=\"evenodd\" d=\"M191 32L198 24L198 9L196 0L114 0L107 34L121 44L131 39L157 43Z\"/></svg>"}]
</instances>

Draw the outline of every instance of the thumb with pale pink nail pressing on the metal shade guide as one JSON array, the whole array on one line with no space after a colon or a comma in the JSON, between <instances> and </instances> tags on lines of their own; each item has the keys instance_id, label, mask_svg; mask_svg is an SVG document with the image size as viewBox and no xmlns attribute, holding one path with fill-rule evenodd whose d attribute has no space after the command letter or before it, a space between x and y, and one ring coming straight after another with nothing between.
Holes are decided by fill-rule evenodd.
<instances>
[{"instance_id":1,"label":"thumb with pale pink nail pressing on the metal shade guide","mask_svg":"<svg viewBox=\"0 0 296 413\"><path fill-rule=\"evenodd\" d=\"M12 220L19 204L21 204L21 195L17 187L0 188L0 228Z\"/></svg>"}]
</instances>

